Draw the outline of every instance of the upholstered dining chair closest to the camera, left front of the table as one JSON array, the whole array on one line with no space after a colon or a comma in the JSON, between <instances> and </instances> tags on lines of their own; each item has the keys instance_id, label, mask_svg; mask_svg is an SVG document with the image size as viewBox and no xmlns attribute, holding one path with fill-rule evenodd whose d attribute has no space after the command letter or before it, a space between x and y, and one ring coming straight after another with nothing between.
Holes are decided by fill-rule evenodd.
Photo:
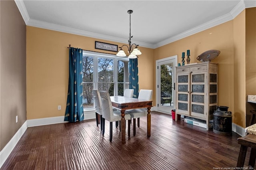
<instances>
[{"instance_id":1,"label":"upholstered dining chair closest to the camera, left front of the table","mask_svg":"<svg viewBox=\"0 0 256 170\"><path fill-rule=\"evenodd\" d=\"M108 91L100 91L100 97L102 101L102 135L105 133L105 119L110 122L109 126L109 141L112 142L113 122L121 121L121 112L113 111L112 102ZM130 138L130 115L124 116L125 120L128 120L128 137Z\"/></svg>"}]
</instances>

